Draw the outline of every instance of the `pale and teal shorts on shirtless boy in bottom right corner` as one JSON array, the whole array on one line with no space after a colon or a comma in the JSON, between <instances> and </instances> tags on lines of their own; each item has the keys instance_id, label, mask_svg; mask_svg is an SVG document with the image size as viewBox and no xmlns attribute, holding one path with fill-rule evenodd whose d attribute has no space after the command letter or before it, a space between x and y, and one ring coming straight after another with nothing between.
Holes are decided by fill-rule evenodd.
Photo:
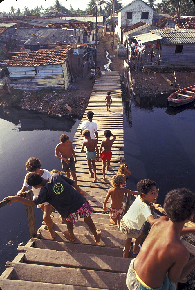
<instances>
[{"instance_id":1,"label":"pale and teal shorts on shirtless boy in bottom right corner","mask_svg":"<svg viewBox=\"0 0 195 290\"><path fill-rule=\"evenodd\" d=\"M165 276L165 279L163 280L163 284L158 288L148 288L142 285L142 283L138 281L138 279L136 278L136 274L133 267L134 261L135 261L135 258L131 260L131 263L129 265L129 269L127 272L126 284L129 290L175 290L175 284L169 281L169 278L167 277L167 275Z\"/></svg>"}]
</instances>

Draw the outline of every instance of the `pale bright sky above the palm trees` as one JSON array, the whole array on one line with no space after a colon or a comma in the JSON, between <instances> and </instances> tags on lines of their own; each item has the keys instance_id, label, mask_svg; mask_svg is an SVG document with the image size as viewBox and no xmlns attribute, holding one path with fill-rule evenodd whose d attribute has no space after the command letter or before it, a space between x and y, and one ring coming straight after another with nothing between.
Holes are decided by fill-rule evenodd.
<instances>
[{"instance_id":1,"label":"pale bright sky above the palm trees","mask_svg":"<svg viewBox=\"0 0 195 290\"><path fill-rule=\"evenodd\" d=\"M90 0L59 0L61 2L61 5L64 6L65 8L69 9L70 4L72 5L73 9L82 9L85 10L87 8L87 4L89 3ZM129 4L132 0L122 0L121 3L125 6ZM55 3L55 0L0 0L0 11L11 11L10 7L13 6L15 10L17 8L20 8L22 11L24 6L27 6L30 10L35 8L36 5L41 6L43 5L44 8L50 7ZM147 1L145 1L147 2Z\"/></svg>"}]
</instances>

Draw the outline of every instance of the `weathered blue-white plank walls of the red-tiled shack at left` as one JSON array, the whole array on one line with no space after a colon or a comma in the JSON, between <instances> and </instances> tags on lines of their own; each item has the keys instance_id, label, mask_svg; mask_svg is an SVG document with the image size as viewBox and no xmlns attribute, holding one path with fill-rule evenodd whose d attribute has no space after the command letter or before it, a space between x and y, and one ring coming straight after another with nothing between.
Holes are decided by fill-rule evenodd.
<instances>
[{"instance_id":1,"label":"weathered blue-white plank walls of the red-tiled shack at left","mask_svg":"<svg viewBox=\"0 0 195 290\"><path fill-rule=\"evenodd\" d=\"M64 69L60 64L35 67L9 66L10 85L15 89L21 90L38 90L43 88L67 89L69 78L68 72L64 72ZM67 71L67 68L65 71ZM67 74L66 78L64 77L65 74Z\"/></svg>"}]
</instances>

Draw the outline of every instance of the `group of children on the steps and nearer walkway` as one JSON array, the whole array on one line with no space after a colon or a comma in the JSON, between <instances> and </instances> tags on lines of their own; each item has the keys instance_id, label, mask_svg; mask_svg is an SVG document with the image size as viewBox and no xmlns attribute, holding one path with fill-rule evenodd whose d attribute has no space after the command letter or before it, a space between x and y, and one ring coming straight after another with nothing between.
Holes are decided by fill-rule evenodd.
<instances>
[{"instance_id":1,"label":"group of children on the steps and nearer walkway","mask_svg":"<svg viewBox=\"0 0 195 290\"><path fill-rule=\"evenodd\" d=\"M104 132L105 139L101 142L99 152L97 124L92 122L92 118L93 112L89 111L88 121L84 121L84 124L82 123L80 126L81 134L85 138L81 152L86 154L91 177L93 176L93 166L93 182L97 182L95 160L99 160L99 157L102 158L102 173L103 179L105 179L106 161L107 170L109 170L111 147L116 136L111 134L110 130L106 130ZM113 139L110 140L111 136ZM55 156L61 159L62 169L66 172L67 177L57 170L49 172L41 169L40 160L30 157L26 162L28 173L25 176L22 189L18 191L17 195L8 196L5 199L9 200L10 205L14 201L19 201L29 206L37 205L40 207L52 239L56 237L50 217L52 206L59 212L61 222L64 223L66 220L67 231L64 231L63 235L71 241L75 240L73 224L78 221L78 216L80 216L89 226L95 242L99 243L101 231L95 228L91 219L93 207L77 185L75 169L77 160L72 142L65 134L60 136L60 141L61 143L56 146ZM73 180L69 178L69 170ZM134 259L131 260L127 273L127 287L129 290L174 290L178 281L184 278L195 266L195 258L189 260L189 252L180 240L180 236L195 232L194 227L184 228L184 224L193 218L195 196L185 188L170 191L167 193L164 203L167 216L154 219L151 209L158 210L158 207L161 206L156 204L158 197L156 183L144 179L138 182L137 191L132 191L126 188L126 180L129 175L131 172L128 170L128 165L121 164L118 173L111 179L112 188L108 190L103 204L103 212L106 212L106 204L111 197L110 223L118 225L118 228L126 236L123 249L124 258L129 256L132 239L135 239L131 253ZM28 186L32 186L33 200L21 196ZM137 197L127 213L120 219L123 212L124 194L133 194ZM152 227L141 247L140 241L146 221Z\"/></svg>"}]
</instances>

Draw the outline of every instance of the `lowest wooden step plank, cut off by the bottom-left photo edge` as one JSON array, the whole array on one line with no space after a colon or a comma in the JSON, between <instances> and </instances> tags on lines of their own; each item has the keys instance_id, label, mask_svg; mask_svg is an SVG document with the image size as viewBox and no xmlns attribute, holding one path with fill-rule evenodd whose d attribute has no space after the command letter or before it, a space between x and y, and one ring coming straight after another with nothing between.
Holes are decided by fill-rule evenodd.
<instances>
[{"instance_id":1,"label":"lowest wooden step plank, cut off by the bottom-left photo edge","mask_svg":"<svg viewBox=\"0 0 195 290\"><path fill-rule=\"evenodd\" d=\"M2 290L98 290L97 288L81 287L62 284L49 284L41 282L3 280L0 279Z\"/></svg>"}]
</instances>

